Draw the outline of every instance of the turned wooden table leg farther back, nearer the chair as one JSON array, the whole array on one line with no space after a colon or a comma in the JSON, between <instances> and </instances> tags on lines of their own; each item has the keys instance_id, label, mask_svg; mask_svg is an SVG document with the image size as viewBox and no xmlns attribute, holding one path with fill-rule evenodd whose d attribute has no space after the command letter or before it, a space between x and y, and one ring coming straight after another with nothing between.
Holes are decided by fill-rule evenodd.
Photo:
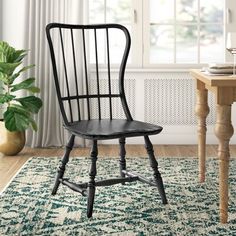
<instances>
[{"instance_id":1,"label":"turned wooden table leg farther back, nearer the chair","mask_svg":"<svg viewBox=\"0 0 236 236\"><path fill-rule=\"evenodd\" d=\"M195 113L198 117L198 159L199 159L199 181L205 181L206 162L206 117L209 113L207 103L208 91L197 90Z\"/></svg>"}]
</instances>

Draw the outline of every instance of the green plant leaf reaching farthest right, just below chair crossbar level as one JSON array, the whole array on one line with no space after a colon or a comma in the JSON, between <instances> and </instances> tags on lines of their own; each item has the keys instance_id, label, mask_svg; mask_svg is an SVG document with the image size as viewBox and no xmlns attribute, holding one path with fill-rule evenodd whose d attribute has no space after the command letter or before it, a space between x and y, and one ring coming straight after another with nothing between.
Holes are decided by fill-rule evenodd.
<instances>
[{"instance_id":1,"label":"green plant leaf reaching farthest right, just below chair crossbar level","mask_svg":"<svg viewBox=\"0 0 236 236\"><path fill-rule=\"evenodd\" d=\"M25 109L32 113L38 113L39 109L43 105L42 100L35 96L18 98L15 100L18 101Z\"/></svg>"}]
</instances>

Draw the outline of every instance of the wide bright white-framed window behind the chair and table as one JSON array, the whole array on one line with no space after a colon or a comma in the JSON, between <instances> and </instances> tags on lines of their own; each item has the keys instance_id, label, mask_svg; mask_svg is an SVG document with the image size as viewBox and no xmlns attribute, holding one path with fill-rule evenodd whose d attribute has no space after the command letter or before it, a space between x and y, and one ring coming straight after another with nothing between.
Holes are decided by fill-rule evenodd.
<instances>
[{"instance_id":1,"label":"wide bright white-framed window behind the chair and table","mask_svg":"<svg viewBox=\"0 0 236 236\"><path fill-rule=\"evenodd\" d=\"M89 0L89 22L130 30L130 66L224 62L226 1L232 0Z\"/></svg>"}]
</instances>

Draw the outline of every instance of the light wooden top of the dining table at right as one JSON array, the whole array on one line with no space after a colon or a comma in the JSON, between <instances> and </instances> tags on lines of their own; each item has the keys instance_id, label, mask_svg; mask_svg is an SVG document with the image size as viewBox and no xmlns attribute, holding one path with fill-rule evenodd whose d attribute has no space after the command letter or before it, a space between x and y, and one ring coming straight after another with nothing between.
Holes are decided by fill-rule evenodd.
<instances>
[{"instance_id":1,"label":"light wooden top of the dining table at right","mask_svg":"<svg viewBox=\"0 0 236 236\"><path fill-rule=\"evenodd\" d=\"M209 86L236 87L236 77L230 77L230 75L207 75L197 69L190 70L190 74Z\"/></svg>"}]
</instances>

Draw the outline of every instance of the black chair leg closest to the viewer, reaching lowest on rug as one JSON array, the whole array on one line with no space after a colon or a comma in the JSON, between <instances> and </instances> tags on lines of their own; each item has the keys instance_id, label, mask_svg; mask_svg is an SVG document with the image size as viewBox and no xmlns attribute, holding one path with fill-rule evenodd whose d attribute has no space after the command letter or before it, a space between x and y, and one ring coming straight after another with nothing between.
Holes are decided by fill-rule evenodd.
<instances>
[{"instance_id":1,"label":"black chair leg closest to the viewer, reaching lowest on rug","mask_svg":"<svg viewBox=\"0 0 236 236\"><path fill-rule=\"evenodd\" d=\"M88 198L87 198L87 217L92 217L93 214L93 203L95 196L95 176L97 174L96 161L98 155L97 140L93 141L93 147L90 154L91 157L91 168L89 172L90 180L88 182Z\"/></svg>"}]
</instances>

